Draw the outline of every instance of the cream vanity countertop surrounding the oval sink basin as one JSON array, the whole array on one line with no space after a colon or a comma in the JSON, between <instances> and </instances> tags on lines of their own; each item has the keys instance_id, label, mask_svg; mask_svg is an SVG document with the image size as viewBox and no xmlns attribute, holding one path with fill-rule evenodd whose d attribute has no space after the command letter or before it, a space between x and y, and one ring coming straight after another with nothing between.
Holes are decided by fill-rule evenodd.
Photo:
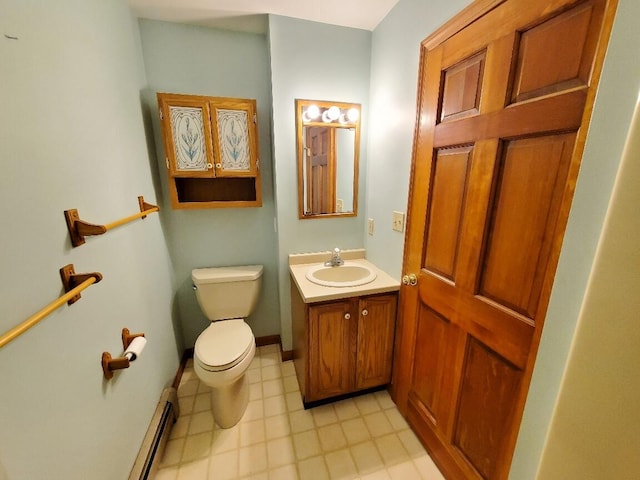
<instances>
[{"instance_id":1,"label":"cream vanity countertop surrounding the oval sink basin","mask_svg":"<svg viewBox=\"0 0 640 480\"><path fill-rule=\"evenodd\" d=\"M289 255L289 272L293 282L298 287L304 303L323 302L326 300L338 300L360 295L373 295L376 293L395 292L400 290L400 282L392 278L386 272L380 270L373 263L364 258L364 250L345 250L341 257L349 260L349 263L361 264L376 272L374 281L355 287L325 287L317 285L305 276L309 268L322 264L331 258L331 252L319 252L308 254Z\"/></svg>"}]
</instances>

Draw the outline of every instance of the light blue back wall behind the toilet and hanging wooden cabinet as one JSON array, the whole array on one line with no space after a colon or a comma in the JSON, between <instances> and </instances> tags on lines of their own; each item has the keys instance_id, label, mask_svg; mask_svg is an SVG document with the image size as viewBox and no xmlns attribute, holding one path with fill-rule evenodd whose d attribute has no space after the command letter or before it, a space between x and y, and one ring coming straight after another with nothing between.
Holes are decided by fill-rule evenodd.
<instances>
[{"instance_id":1,"label":"light blue back wall behind the toilet and hanging wooden cabinet","mask_svg":"<svg viewBox=\"0 0 640 480\"><path fill-rule=\"evenodd\" d=\"M176 275L184 344L192 347L208 325L192 289L191 270L199 267L264 265L260 301L247 323L258 337L277 335L280 314L267 40L264 35L153 20L139 23L148 80L143 98L153 123L154 171L162 184L162 216ZM171 208L156 92L257 100L262 207Z\"/></svg>"}]
</instances>

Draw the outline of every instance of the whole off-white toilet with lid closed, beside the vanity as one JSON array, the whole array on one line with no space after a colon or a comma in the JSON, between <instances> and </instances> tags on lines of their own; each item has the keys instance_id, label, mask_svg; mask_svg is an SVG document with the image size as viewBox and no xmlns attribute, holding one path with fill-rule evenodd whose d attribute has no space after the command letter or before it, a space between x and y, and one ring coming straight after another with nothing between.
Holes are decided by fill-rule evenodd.
<instances>
[{"instance_id":1,"label":"whole off-white toilet with lid closed, beside the vanity","mask_svg":"<svg viewBox=\"0 0 640 480\"><path fill-rule=\"evenodd\" d=\"M213 418L222 428L240 421L249 402L246 371L256 352L251 327L262 286L262 265L196 268L191 279L198 304L211 324L198 336L193 367L211 387Z\"/></svg>"}]
</instances>

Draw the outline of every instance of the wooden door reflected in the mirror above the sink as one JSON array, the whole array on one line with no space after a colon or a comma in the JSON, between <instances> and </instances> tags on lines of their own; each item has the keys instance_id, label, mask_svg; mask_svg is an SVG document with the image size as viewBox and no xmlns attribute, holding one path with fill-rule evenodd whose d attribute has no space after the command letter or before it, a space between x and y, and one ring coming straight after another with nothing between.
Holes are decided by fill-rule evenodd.
<instances>
[{"instance_id":1,"label":"wooden door reflected in the mirror above the sink","mask_svg":"<svg viewBox=\"0 0 640 480\"><path fill-rule=\"evenodd\" d=\"M335 129L306 127L307 209L309 213L334 213Z\"/></svg>"}]
</instances>

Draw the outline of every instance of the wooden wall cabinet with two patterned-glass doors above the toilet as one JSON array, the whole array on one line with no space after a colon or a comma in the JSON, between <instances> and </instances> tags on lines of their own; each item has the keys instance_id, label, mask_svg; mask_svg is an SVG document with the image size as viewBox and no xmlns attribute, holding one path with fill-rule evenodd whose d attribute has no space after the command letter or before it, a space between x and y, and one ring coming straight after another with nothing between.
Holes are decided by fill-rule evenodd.
<instances>
[{"instance_id":1,"label":"wooden wall cabinet with two patterned-glass doors above the toilet","mask_svg":"<svg viewBox=\"0 0 640 480\"><path fill-rule=\"evenodd\" d=\"M171 206L262 206L256 101L157 96Z\"/></svg>"}]
</instances>

